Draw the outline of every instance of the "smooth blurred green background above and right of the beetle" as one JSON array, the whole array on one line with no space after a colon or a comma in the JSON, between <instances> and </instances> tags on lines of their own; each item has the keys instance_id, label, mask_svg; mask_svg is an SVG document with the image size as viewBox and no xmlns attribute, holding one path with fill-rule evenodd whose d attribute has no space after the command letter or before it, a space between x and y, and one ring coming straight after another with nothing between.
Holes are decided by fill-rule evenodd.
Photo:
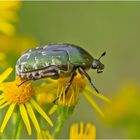
<instances>
[{"instance_id":1,"label":"smooth blurred green background above and right of the beetle","mask_svg":"<svg viewBox=\"0 0 140 140\"><path fill-rule=\"evenodd\" d=\"M91 72L106 94L124 79L139 81L140 2L22 2L18 32L39 44L78 44L97 58L106 51L104 73Z\"/></svg>"}]
</instances>

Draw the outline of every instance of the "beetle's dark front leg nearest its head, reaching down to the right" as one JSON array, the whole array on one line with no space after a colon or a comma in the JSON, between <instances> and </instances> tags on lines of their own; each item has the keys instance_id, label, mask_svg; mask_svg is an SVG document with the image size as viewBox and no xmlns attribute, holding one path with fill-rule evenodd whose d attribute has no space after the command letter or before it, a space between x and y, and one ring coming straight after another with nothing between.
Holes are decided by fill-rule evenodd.
<instances>
[{"instance_id":1,"label":"beetle's dark front leg nearest its head, reaching down to the right","mask_svg":"<svg viewBox=\"0 0 140 140\"><path fill-rule=\"evenodd\" d=\"M79 72L80 72L81 74L83 74L83 75L88 79L88 81L90 82L90 84L91 84L91 86L93 87L93 89L94 89L97 93L99 93L98 89L94 86L94 84L93 84L92 81L91 81L90 76L86 73L86 71L85 71L83 68L81 68L81 67L79 67L78 70L79 70Z\"/></svg>"}]
</instances>

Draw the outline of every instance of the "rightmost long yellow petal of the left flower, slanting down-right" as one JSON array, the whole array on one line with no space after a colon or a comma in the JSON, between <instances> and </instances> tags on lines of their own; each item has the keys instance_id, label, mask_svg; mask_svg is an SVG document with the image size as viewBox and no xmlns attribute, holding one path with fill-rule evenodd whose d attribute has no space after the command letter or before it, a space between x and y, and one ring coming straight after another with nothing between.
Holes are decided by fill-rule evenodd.
<instances>
[{"instance_id":1,"label":"rightmost long yellow petal of the left flower, slanting down-right","mask_svg":"<svg viewBox=\"0 0 140 140\"><path fill-rule=\"evenodd\" d=\"M34 108L38 111L38 113L40 113L40 115L42 117L44 117L44 119L46 119L46 121L53 126L53 123L51 121L51 119L47 116L47 114L43 111L43 109L36 103L36 101L34 101L33 99L30 100L32 105L34 106Z\"/></svg>"}]
</instances>

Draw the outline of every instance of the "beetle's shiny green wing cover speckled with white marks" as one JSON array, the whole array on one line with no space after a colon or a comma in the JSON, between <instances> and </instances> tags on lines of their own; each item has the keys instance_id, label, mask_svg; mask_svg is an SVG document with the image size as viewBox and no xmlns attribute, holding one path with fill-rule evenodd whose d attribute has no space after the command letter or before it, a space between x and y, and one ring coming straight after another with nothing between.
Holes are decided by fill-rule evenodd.
<instances>
[{"instance_id":1,"label":"beetle's shiny green wing cover speckled with white marks","mask_svg":"<svg viewBox=\"0 0 140 140\"><path fill-rule=\"evenodd\" d=\"M46 47L31 49L25 52L17 61L16 74L28 73L45 69L48 66L67 68L68 56L64 51L47 51Z\"/></svg>"}]
</instances>

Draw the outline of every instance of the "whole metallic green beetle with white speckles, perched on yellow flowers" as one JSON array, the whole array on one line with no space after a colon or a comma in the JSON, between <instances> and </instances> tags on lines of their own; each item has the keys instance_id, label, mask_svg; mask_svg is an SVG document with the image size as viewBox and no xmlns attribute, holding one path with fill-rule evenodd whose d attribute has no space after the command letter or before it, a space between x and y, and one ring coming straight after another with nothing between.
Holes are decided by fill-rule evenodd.
<instances>
[{"instance_id":1,"label":"whole metallic green beetle with white speckles, perched on yellow flowers","mask_svg":"<svg viewBox=\"0 0 140 140\"><path fill-rule=\"evenodd\" d=\"M101 73L104 65L100 59L105 54L104 52L98 59L95 59L86 50L73 44L49 44L30 49L16 63L16 75L25 79L18 86L28 80L47 77L58 79L70 76L65 89L65 93L67 93L78 71L89 80L94 90L99 93L86 71L96 69L97 73Z\"/></svg>"}]
</instances>

